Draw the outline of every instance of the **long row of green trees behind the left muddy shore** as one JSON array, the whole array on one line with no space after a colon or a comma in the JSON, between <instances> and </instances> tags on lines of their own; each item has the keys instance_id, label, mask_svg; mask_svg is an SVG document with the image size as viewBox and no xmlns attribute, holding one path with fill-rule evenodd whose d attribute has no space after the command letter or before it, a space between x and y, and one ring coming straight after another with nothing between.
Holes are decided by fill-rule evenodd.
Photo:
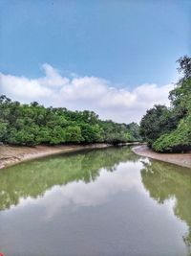
<instances>
[{"instance_id":1,"label":"long row of green trees behind the left muddy shore","mask_svg":"<svg viewBox=\"0 0 191 256\"><path fill-rule=\"evenodd\" d=\"M0 142L12 145L119 144L140 140L138 124L101 121L93 111L71 111L0 97Z\"/></svg>"}]
</instances>

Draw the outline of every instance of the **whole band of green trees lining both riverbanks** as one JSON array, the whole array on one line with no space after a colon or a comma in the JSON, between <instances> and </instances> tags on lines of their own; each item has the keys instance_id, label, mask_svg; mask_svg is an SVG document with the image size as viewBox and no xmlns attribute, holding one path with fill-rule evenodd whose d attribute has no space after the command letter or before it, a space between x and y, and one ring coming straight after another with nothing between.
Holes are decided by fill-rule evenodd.
<instances>
[{"instance_id":1,"label":"whole band of green trees lining both riverbanks","mask_svg":"<svg viewBox=\"0 0 191 256\"><path fill-rule=\"evenodd\" d=\"M182 74L170 91L171 106L154 105L140 122L102 121L93 111L71 111L0 97L0 142L12 145L119 143L143 140L159 152L191 150L191 58L178 60Z\"/></svg>"}]
</instances>

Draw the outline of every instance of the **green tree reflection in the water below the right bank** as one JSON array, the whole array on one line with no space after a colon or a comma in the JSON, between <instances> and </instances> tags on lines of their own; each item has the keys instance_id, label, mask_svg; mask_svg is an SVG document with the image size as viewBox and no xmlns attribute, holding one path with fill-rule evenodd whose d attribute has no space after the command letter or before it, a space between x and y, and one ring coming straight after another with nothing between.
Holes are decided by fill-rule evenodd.
<instances>
[{"instance_id":1,"label":"green tree reflection in the water below the right bank","mask_svg":"<svg viewBox=\"0 0 191 256\"><path fill-rule=\"evenodd\" d=\"M174 214L188 225L184 243L191 247L191 173L190 169L159 161L143 162L141 178L150 197L163 203L176 198Z\"/></svg>"}]
</instances>

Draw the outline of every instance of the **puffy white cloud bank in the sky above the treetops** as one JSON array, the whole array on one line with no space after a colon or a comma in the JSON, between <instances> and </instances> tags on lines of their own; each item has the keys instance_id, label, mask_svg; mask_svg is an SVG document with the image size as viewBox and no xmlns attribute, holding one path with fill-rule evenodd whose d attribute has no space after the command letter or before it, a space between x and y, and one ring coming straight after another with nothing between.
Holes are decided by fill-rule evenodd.
<instances>
[{"instance_id":1,"label":"puffy white cloud bank in the sky above the treetops","mask_svg":"<svg viewBox=\"0 0 191 256\"><path fill-rule=\"evenodd\" d=\"M155 104L168 104L172 84L142 84L129 91L96 77L66 78L50 64L43 64L45 76L28 79L0 73L0 93L12 100L69 109L96 111L101 119L116 122L138 122L146 109Z\"/></svg>"}]
</instances>

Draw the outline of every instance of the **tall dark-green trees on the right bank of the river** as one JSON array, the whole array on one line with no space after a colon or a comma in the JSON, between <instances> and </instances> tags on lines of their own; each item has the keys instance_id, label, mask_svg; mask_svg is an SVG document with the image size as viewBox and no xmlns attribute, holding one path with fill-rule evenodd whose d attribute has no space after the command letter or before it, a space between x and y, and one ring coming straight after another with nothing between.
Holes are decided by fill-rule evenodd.
<instances>
[{"instance_id":1,"label":"tall dark-green trees on the right bank of the river","mask_svg":"<svg viewBox=\"0 0 191 256\"><path fill-rule=\"evenodd\" d=\"M182 74L170 91L170 107L155 105L140 122L140 134L155 151L191 150L191 58L178 60Z\"/></svg>"}]
</instances>

